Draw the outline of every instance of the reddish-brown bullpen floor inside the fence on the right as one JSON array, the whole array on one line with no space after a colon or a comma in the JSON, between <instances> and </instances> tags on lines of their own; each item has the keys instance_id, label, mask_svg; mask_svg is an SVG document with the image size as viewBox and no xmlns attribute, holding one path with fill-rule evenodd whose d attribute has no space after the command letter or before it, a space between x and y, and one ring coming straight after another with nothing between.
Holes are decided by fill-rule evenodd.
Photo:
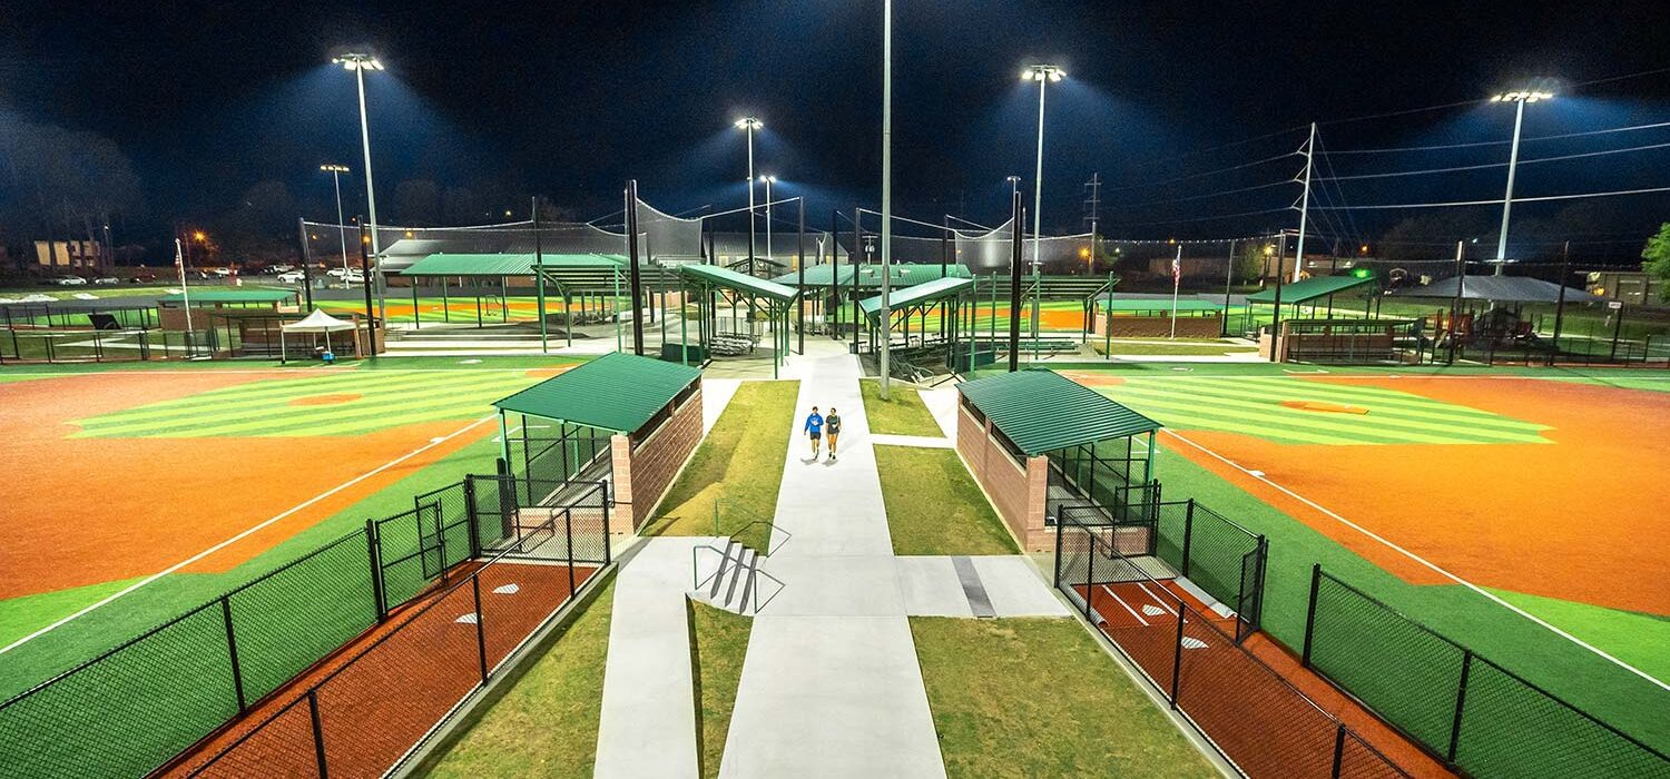
<instances>
[{"instance_id":1,"label":"reddish-brown bullpen floor inside the fence on the right","mask_svg":"<svg viewBox=\"0 0 1670 779\"><path fill-rule=\"evenodd\" d=\"M1079 592L1086 591L1080 587ZM1096 624L1151 679L1169 687L1179 656L1177 599L1194 609L1192 614L1184 612L1177 706L1247 776L1329 776L1338 726L1319 714L1318 707L1346 722L1361 739L1346 739L1338 776L1396 776L1384 759L1418 777L1455 776L1328 682L1299 667L1264 634L1246 641L1247 652L1236 649L1234 617L1219 619L1174 582L1096 587ZM1211 616L1209 624L1199 619L1202 614ZM1249 652L1269 669L1259 666ZM1374 756L1364 742L1373 744L1384 759Z\"/></svg>"}]
</instances>

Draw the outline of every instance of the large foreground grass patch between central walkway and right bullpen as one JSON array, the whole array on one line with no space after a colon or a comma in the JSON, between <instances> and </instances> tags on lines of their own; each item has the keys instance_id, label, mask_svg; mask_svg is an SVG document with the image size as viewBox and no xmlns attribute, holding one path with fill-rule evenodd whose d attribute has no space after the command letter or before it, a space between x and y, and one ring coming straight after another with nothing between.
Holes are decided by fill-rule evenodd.
<instances>
[{"instance_id":1,"label":"large foreground grass patch between central walkway and right bullpen","mask_svg":"<svg viewBox=\"0 0 1670 779\"><path fill-rule=\"evenodd\" d=\"M910 634L954 779L1219 776L1077 621L910 617Z\"/></svg>"}]
</instances>

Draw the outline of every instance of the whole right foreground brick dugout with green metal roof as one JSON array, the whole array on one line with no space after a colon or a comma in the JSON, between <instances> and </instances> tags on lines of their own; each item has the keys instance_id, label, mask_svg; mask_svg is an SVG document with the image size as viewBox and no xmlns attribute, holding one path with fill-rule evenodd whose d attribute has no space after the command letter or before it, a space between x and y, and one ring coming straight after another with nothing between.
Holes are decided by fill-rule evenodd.
<instances>
[{"instance_id":1,"label":"whole right foreground brick dugout with green metal roof","mask_svg":"<svg viewBox=\"0 0 1670 779\"><path fill-rule=\"evenodd\" d=\"M1065 507L1106 522L1152 515L1159 422L1044 369L962 382L957 392L957 450L989 494L1005 495L999 512L1029 550L1050 547Z\"/></svg>"}]
</instances>

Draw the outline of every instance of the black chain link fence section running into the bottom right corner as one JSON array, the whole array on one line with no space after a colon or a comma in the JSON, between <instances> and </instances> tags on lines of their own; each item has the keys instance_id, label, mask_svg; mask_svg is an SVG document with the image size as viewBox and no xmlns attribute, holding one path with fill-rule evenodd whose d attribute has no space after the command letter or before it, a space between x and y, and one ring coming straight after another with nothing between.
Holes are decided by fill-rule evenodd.
<instances>
[{"instance_id":1,"label":"black chain link fence section running into the bottom right corner","mask_svg":"<svg viewBox=\"0 0 1670 779\"><path fill-rule=\"evenodd\" d=\"M1304 666L1471 776L1670 777L1670 757L1311 569Z\"/></svg>"}]
</instances>

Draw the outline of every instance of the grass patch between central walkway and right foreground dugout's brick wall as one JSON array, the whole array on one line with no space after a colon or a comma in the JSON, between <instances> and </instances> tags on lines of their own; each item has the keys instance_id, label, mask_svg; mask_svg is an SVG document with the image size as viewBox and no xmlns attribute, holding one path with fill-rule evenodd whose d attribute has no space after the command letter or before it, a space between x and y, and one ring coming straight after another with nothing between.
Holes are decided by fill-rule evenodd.
<instances>
[{"instance_id":1,"label":"grass patch between central walkway and right foreground dugout's brick wall","mask_svg":"<svg viewBox=\"0 0 1670 779\"><path fill-rule=\"evenodd\" d=\"M1020 554L954 449L875 447L893 554Z\"/></svg>"}]
</instances>

